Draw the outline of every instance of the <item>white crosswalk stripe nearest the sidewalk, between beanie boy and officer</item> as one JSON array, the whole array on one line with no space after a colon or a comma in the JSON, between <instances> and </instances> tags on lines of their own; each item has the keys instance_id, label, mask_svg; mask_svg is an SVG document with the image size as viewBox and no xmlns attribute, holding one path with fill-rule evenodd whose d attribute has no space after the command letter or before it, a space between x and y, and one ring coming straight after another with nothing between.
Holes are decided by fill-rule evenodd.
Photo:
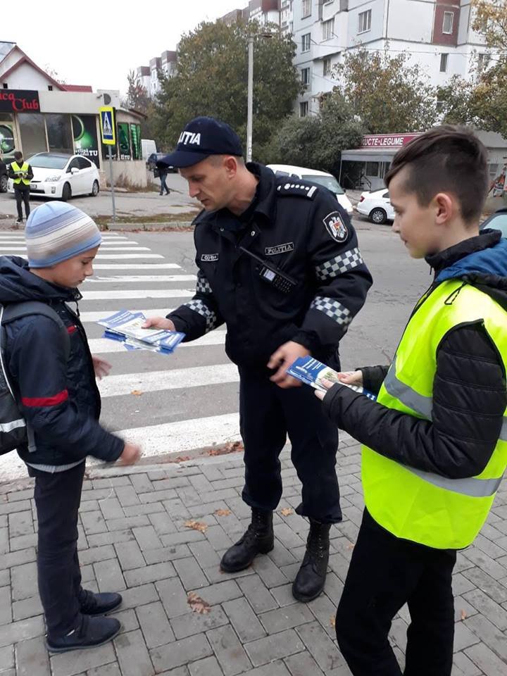
<instances>
[{"instance_id":1,"label":"white crosswalk stripe nearest the sidewalk, between beanie boy and officer","mask_svg":"<svg viewBox=\"0 0 507 676\"><path fill-rule=\"evenodd\" d=\"M142 446L145 458L168 453L184 453L241 439L239 413L177 420L175 423L148 425L147 427L132 427L130 430L121 430L115 434Z\"/></svg>"}]
</instances>

